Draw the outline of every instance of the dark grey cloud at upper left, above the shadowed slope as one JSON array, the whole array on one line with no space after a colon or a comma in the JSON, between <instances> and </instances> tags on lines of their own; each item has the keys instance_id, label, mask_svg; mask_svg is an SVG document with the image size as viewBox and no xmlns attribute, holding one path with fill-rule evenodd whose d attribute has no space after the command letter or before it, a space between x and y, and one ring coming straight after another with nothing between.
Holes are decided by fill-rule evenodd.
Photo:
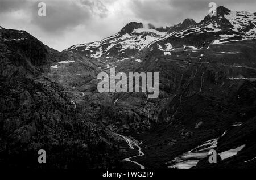
<instances>
[{"instance_id":1,"label":"dark grey cloud at upper left, above the shadowed slope","mask_svg":"<svg viewBox=\"0 0 256 180\"><path fill-rule=\"evenodd\" d=\"M38 3L46 3L46 16L38 15ZM49 33L61 33L80 24L88 24L93 17L105 18L108 9L100 0L0 0L0 13L25 11L30 23Z\"/></svg>"}]
</instances>

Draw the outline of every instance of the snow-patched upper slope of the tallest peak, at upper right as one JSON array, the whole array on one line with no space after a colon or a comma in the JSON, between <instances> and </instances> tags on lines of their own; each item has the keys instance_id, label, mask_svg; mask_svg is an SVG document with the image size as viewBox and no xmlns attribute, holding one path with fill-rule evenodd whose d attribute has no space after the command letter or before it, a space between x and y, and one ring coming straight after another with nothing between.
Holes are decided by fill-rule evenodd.
<instances>
[{"instance_id":1,"label":"snow-patched upper slope of the tallest peak, at upper right","mask_svg":"<svg viewBox=\"0 0 256 180\"><path fill-rule=\"evenodd\" d=\"M155 44L172 46L173 49L191 46L193 49L208 48L210 44L222 44L256 38L256 16L249 12L230 11L220 6L217 16L205 16L198 24L171 31L152 43L149 49L158 49ZM160 48L159 48L160 49ZM166 49L167 51L170 49Z\"/></svg>"}]
</instances>

